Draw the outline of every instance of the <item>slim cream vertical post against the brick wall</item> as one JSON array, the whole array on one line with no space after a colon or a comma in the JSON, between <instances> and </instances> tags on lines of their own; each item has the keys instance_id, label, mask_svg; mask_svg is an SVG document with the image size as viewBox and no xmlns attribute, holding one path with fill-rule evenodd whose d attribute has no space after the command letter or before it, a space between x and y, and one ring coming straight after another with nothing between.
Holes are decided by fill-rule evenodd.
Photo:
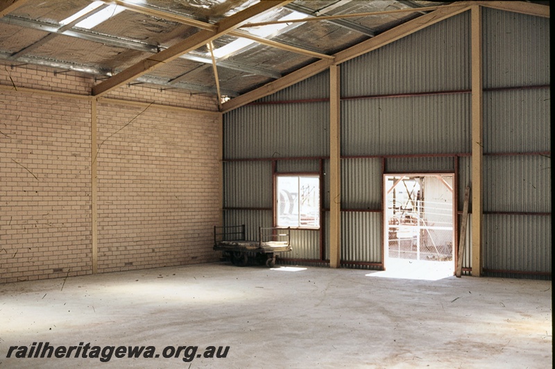
<instances>
[{"instance_id":1,"label":"slim cream vertical post against the brick wall","mask_svg":"<svg viewBox=\"0 0 555 369\"><path fill-rule=\"evenodd\" d=\"M92 231L92 274L98 273L98 259L99 259L99 233L98 233L98 212L97 212L97 198L98 198L98 183L96 182L96 168L98 160L98 148L96 147L96 123L98 115L96 113L96 98L91 98L91 231Z\"/></svg>"}]
</instances>

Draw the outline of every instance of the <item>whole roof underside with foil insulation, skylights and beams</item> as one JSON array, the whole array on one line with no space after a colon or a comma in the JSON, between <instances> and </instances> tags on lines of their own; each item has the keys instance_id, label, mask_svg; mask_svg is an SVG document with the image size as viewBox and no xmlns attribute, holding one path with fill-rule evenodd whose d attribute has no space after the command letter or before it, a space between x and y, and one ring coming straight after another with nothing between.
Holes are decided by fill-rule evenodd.
<instances>
[{"instance_id":1,"label":"whole roof underside with foil insulation, skylights and beams","mask_svg":"<svg viewBox=\"0 0 555 369\"><path fill-rule=\"evenodd\" d=\"M549 17L547 1L481 3L520 3L520 8L532 9L530 14L544 12ZM344 61L338 60L341 52L348 53L413 19L460 11L468 4L420 0L0 0L0 60L93 75L96 85L91 93L95 96L141 83L157 89L214 94L223 103L293 72L302 74L309 69L314 74ZM85 12L79 15L80 10ZM103 13L107 15L101 17ZM99 23L86 24L95 14Z\"/></svg>"}]
</instances>

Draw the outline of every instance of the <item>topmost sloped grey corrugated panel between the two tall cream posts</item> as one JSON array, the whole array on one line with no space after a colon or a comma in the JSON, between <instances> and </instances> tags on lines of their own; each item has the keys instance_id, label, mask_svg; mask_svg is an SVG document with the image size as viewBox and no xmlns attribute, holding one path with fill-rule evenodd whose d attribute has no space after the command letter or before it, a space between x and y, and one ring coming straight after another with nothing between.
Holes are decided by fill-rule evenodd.
<instances>
[{"instance_id":1,"label":"topmost sloped grey corrugated panel between the two tall cream posts","mask_svg":"<svg viewBox=\"0 0 555 369\"><path fill-rule=\"evenodd\" d=\"M470 13L464 12L341 65L341 96L470 89Z\"/></svg>"}]
</instances>

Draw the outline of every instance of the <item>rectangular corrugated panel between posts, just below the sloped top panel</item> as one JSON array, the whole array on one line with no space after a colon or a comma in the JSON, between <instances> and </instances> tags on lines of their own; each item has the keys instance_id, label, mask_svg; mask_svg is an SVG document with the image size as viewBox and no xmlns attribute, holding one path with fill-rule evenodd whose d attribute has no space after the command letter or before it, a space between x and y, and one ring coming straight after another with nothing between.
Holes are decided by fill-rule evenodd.
<instances>
[{"instance_id":1,"label":"rectangular corrugated panel between posts, just below the sloped top panel","mask_svg":"<svg viewBox=\"0 0 555 369\"><path fill-rule=\"evenodd\" d=\"M341 103L341 112L343 155L470 150L468 93L351 99Z\"/></svg>"}]
</instances>

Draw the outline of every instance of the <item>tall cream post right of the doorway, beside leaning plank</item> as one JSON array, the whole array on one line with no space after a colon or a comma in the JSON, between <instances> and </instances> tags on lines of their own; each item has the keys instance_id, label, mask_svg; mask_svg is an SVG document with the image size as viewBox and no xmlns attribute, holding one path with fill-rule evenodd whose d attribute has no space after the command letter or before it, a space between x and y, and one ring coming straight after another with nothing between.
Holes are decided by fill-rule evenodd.
<instances>
[{"instance_id":1,"label":"tall cream post right of the doorway, beside leaning plank","mask_svg":"<svg viewBox=\"0 0 555 369\"><path fill-rule=\"evenodd\" d=\"M472 275L482 274L484 131L482 91L481 8L472 6Z\"/></svg>"}]
</instances>

